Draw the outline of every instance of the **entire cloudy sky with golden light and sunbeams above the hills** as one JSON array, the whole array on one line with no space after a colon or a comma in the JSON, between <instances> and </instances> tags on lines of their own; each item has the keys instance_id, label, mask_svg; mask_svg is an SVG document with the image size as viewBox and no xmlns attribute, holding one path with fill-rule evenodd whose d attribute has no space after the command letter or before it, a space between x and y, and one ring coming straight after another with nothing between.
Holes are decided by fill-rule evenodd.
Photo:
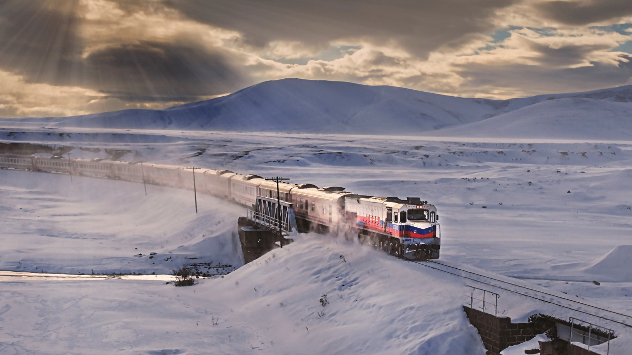
<instances>
[{"instance_id":1,"label":"entire cloudy sky with golden light and sunbeams above the hills","mask_svg":"<svg viewBox=\"0 0 632 355\"><path fill-rule=\"evenodd\" d=\"M266 80L506 99L632 84L630 0L0 0L0 116L163 108Z\"/></svg>"}]
</instances>

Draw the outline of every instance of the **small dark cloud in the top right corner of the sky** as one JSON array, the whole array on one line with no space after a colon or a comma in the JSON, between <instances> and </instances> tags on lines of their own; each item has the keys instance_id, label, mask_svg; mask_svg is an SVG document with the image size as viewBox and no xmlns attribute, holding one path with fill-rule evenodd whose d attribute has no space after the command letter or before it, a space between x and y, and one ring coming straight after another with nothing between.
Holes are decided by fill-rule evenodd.
<instances>
[{"instance_id":1,"label":"small dark cloud in the top right corner of the sky","mask_svg":"<svg viewBox=\"0 0 632 355\"><path fill-rule=\"evenodd\" d=\"M552 20L580 26L632 15L632 1L549 1L538 4L537 9Z\"/></svg>"}]
</instances>

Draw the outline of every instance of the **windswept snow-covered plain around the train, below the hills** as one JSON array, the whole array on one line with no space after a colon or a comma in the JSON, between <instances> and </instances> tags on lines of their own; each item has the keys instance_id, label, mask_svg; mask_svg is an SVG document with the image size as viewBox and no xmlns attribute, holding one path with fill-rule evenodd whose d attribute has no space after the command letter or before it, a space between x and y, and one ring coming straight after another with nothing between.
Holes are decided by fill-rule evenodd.
<instances>
[{"instance_id":1,"label":"windswept snow-covered plain around the train, below the hills","mask_svg":"<svg viewBox=\"0 0 632 355\"><path fill-rule=\"evenodd\" d=\"M12 131L0 131L0 142L419 196L441 216L442 262L632 314L632 141ZM467 280L317 234L242 266L234 234L243 208L204 196L196 215L191 191L147 186L147 193L142 184L0 171L1 270L238 268L177 288L158 276L3 279L0 354L485 352L461 309ZM573 316L500 293L499 313L516 320L540 311ZM629 354L629 329L593 321L620 335L610 354Z\"/></svg>"}]
</instances>

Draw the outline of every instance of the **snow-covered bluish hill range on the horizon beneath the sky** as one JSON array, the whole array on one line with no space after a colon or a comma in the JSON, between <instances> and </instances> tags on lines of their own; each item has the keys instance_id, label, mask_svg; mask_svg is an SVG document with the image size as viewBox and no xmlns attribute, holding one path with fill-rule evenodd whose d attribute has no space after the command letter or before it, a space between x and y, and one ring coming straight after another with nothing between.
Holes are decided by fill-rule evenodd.
<instances>
[{"instance_id":1,"label":"snow-covered bluish hill range on the horizon beneath the sky","mask_svg":"<svg viewBox=\"0 0 632 355\"><path fill-rule=\"evenodd\" d=\"M604 138L611 130L617 137L632 133L631 102L631 86L487 100L341 81L283 79L164 110L28 120L49 127L378 135L429 135L428 131L439 129L432 134L590 138L599 133L598 138Z\"/></svg>"}]
</instances>

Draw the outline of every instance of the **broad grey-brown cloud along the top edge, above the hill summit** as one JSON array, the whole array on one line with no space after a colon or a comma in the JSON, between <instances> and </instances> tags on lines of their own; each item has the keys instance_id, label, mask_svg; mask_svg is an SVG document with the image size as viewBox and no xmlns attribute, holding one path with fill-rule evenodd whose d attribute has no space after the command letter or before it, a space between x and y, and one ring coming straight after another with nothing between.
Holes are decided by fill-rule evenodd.
<instances>
[{"instance_id":1,"label":"broad grey-brown cloud along the top edge, above the hill summit","mask_svg":"<svg viewBox=\"0 0 632 355\"><path fill-rule=\"evenodd\" d=\"M332 40L363 37L376 44L394 40L421 57L468 34L493 32L489 19L515 2L164 0L193 20L242 33L256 47L289 40L325 48Z\"/></svg>"}]
</instances>

